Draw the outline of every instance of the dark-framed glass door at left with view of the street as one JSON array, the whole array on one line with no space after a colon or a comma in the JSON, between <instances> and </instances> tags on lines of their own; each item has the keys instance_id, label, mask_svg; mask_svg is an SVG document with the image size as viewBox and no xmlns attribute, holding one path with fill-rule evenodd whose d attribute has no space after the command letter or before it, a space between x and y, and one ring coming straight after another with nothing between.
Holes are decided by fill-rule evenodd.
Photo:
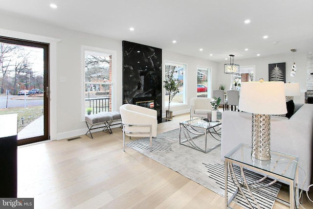
<instances>
[{"instance_id":1,"label":"dark-framed glass door at left with view of the street","mask_svg":"<svg viewBox=\"0 0 313 209\"><path fill-rule=\"evenodd\" d=\"M49 44L0 37L0 115L18 114L18 145L49 139Z\"/></svg>"}]
</instances>

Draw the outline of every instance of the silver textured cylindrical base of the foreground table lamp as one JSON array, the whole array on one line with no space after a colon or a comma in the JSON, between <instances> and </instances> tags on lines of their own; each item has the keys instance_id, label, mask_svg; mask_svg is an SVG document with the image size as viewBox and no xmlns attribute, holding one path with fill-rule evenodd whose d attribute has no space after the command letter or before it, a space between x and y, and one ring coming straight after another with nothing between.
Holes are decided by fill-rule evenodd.
<instances>
[{"instance_id":1,"label":"silver textured cylindrical base of the foreground table lamp","mask_svg":"<svg viewBox=\"0 0 313 209\"><path fill-rule=\"evenodd\" d=\"M270 160L270 116L252 114L251 156L261 161Z\"/></svg>"}]
</instances>

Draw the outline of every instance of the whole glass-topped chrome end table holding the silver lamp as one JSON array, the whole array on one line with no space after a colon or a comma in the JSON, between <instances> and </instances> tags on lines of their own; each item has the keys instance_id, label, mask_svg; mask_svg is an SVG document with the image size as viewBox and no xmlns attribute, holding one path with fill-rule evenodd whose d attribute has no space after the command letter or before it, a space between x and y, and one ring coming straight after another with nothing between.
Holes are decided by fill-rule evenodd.
<instances>
[{"instance_id":1,"label":"whole glass-topped chrome end table holding the silver lamp","mask_svg":"<svg viewBox=\"0 0 313 209\"><path fill-rule=\"evenodd\" d=\"M270 161L260 161L251 157L251 146L247 144L239 144L236 148L225 155L225 208L229 208L228 205L232 199L236 196L237 192L240 191L244 196L246 203L250 208L252 207L251 202L256 205L258 209L261 209L259 204L256 202L251 190L257 191L256 183L264 181L266 178L274 178L273 183L278 180L283 180L289 183L289 199L290 202L282 202L291 209L294 207L299 208L299 191L298 191L298 157L288 155L280 152L271 151ZM240 167L241 176L235 175L234 165ZM265 177L256 182L247 182L244 168L261 173ZM231 178L233 183L237 186L237 190L231 194L228 199L227 196L227 179ZM265 184L269 186L271 184ZM249 192L249 198L244 194L242 188L246 187ZM276 198L276 197L275 197ZM250 201L248 200L250 199ZM252 200L252 201L251 201Z\"/></svg>"}]
</instances>

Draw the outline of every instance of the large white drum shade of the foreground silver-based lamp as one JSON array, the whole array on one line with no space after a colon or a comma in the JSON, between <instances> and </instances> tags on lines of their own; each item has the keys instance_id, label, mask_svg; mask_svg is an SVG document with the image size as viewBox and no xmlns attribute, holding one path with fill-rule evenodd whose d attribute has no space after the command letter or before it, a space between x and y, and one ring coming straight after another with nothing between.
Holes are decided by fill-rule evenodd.
<instances>
[{"instance_id":1,"label":"large white drum shade of the foreground silver-based lamp","mask_svg":"<svg viewBox=\"0 0 313 209\"><path fill-rule=\"evenodd\" d=\"M287 113L283 82L242 82L238 109L262 115Z\"/></svg>"}]
</instances>

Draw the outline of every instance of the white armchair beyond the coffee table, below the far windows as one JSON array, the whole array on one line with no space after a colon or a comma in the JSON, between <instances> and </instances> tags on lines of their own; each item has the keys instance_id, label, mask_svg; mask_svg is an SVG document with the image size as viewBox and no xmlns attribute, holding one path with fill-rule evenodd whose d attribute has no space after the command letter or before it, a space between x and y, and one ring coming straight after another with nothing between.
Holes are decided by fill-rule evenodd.
<instances>
[{"instance_id":1,"label":"white armchair beyond the coffee table, below the far windows","mask_svg":"<svg viewBox=\"0 0 313 209\"><path fill-rule=\"evenodd\" d=\"M194 97L190 99L190 119L193 117L207 117L212 111L212 98Z\"/></svg>"}]
</instances>

